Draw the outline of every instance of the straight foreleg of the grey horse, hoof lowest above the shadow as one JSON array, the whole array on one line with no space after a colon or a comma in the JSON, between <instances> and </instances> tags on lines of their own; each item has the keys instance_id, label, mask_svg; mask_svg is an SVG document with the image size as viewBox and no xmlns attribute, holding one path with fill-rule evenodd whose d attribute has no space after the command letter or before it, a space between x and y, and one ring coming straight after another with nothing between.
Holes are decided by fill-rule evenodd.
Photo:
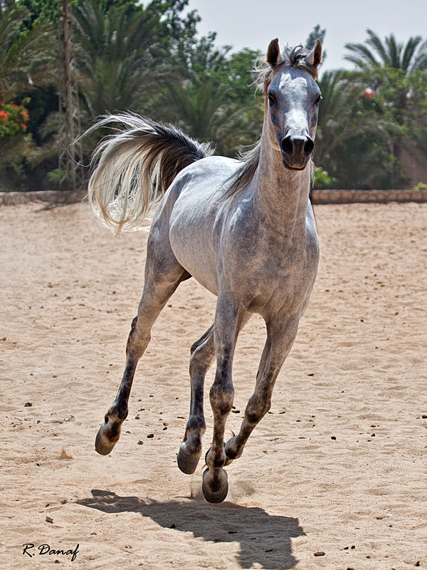
<instances>
[{"instance_id":1,"label":"straight foreleg of the grey horse, hoof lowest above the shadow","mask_svg":"<svg viewBox=\"0 0 427 570\"><path fill-rule=\"evenodd\" d=\"M212 447L206 453L208 469L203 474L202 490L211 503L221 502L228 492L227 474L223 470L226 455L223 436L226 419L233 406L234 388L231 378L234 349L241 330L246 308L226 295L218 296L215 314L214 338L216 375L209 393L214 413L214 437Z\"/></svg>"}]
</instances>

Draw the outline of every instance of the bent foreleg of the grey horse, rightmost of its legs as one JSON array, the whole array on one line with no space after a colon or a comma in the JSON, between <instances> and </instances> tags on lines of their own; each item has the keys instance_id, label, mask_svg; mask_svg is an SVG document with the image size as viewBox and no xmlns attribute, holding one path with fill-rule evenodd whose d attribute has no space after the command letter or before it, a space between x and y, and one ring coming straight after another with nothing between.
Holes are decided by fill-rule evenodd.
<instances>
[{"instance_id":1,"label":"bent foreleg of the grey horse, rightmost of its legs","mask_svg":"<svg viewBox=\"0 0 427 570\"><path fill-rule=\"evenodd\" d=\"M241 457L248 437L264 415L270 410L271 395L278 373L297 336L298 319L283 322L275 319L267 323L267 340L261 357L255 390L246 405L245 417L237 435L226 443L226 465Z\"/></svg>"}]
</instances>

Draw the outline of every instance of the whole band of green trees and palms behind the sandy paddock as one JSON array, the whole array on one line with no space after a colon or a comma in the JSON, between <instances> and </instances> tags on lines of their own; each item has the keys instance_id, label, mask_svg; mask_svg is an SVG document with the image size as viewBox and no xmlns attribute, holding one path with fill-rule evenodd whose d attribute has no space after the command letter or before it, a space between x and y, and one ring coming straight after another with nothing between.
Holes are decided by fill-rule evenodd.
<instances>
[{"instance_id":1,"label":"whole band of green trees and palms behind the sandy paddock","mask_svg":"<svg viewBox=\"0 0 427 570\"><path fill-rule=\"evenodd\" d=\"M264 101L252 86L263 54L218 47L214 32L200 38L188 4L72 0L82 130L98 115L130 110L212 141L221 155L236 156L260 137ZM56 0L0 3L1 185L58 180L57 20ZM317 24L305 46L325 33ZM346 47L353 71L326 71L319 81L315 187L409 185L408 153L427 164L427 41L381 40L367 30L366 42ZM29 118L20 121L23 109ZM103 135L84 140L86 163Z\"/></svg>"}]
</instances>

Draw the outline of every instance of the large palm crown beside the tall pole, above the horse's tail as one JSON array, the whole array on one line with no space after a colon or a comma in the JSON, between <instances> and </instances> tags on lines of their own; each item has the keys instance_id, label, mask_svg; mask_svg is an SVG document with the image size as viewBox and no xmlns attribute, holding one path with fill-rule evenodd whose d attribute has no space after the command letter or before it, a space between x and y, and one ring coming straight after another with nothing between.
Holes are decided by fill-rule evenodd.
<instances>
[{"instance_id":1,"label":"large palm crown beside the tall pole, above the horse's tail","mask_svg":"<svg viewBox=\"0 0 427 570\"><path fill-rule=\"evenodd\" d=\"M107 13L94 0L75 6L80 93L88 115L141 111L154 85L154 51L161 50L159 14L124 4Z\"/></svg>"}]
</instances>

